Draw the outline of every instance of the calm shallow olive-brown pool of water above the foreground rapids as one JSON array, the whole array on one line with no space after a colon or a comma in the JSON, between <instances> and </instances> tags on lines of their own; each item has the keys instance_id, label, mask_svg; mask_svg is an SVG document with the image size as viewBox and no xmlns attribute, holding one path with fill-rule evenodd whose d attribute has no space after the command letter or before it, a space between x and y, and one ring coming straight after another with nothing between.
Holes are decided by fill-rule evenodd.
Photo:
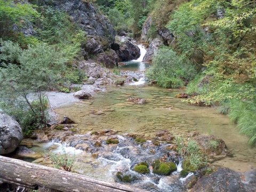
<instances>
[{"instance_id":1,"label":"calm shallow olive-brown pool of water above the foreground rapids","mask_svg":"<svg viewBox=\"0 0 256 192\"><path fill-rule=\"evenodd\" d=\"M110 87L109 87L110 89ZM175 98L178 91L154 86L135 88L124 86L111 88L94 96L90 102L81 101L71 106L57 109L60 116L67 115L75 120L79 133L115 129L121 133L137 132L153 135L159 130L169 130L182 134L198 131L221 137L233 158L225 158L217 165L225 165L238 171L256 167L256 149L247 146L247 138L239 134L236 125L225 115L213 108L197 107ZM144 98L145 105L127 102L130 97ZM102 111L101 115L90 111Z\"/></svg>"}]
</instances>

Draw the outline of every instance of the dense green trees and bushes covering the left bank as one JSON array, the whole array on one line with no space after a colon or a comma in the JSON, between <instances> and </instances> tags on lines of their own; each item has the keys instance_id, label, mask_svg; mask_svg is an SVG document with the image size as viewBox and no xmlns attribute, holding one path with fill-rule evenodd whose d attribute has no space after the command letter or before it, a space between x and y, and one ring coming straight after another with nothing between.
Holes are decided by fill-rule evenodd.
<instances>
[{"instance_id":1,"label":"dense green trees and bushes covering the left bank","mask_svg":"<svg viewBox=\"0 0 256 192\"><path fill-rule=\"evenodd\" d=\"M73 64L86 35L67 13L50 6L0 1L0 23L0 108L28 136L49 121L45 91L70 92L71 83L86 78ZM30 25L34 33L25 35Z\"/></svg>"}]
</instances>

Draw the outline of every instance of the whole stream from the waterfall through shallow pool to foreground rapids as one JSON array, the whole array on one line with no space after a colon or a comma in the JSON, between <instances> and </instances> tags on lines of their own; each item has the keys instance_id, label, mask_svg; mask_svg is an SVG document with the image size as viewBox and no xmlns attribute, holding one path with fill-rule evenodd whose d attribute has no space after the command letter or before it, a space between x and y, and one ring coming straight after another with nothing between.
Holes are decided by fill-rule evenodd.
<instances>
[{"instance_id":1,"label":"whole stream from the waterfall through shallow pool to foreground rapids","mask_svg":"<svg viewBox=\"0 0 256 192\"><path fill-rule=\"evenodd\" d=\"M145 48L140 46L140 49L144 54ZM125 62L121 70L130 71L130 73L139 71L143 74L143 71L150 65L142 62L142 59ZM93 158L91 153L54 141L38 143L31 149L39 153L50 149L54 153L61 153L64 146L66 153L76 155L77 162L74 166L76 172L92 178L115 182L114 173L117 170L126 170L129 174L140 178L140 182L135 182L133 186L149 191L183 191L184 179L179 179L179 172L182 168L181 161L178 160L181 159L176 159L178 170L170 176L161 178L154 174L141 176L131 170L136 162L131 160L132 158L127 158L124 150L130 147L138 151L140 155L149 153L143 151L140 145L135 145L132 140L122 137L122 134L139 133L150 137L160 130L168 130L179 135L194 132L213 134L222 138L228 150L233 154L233 157L214 162L215 166L229 167L240 172L256 167L256 149L247 145L247 138L238 132L236 125L231 123L227 116L219 114L215 108L189 105L175 98L176 94L184 90L162 89L149 86L145 81L145 76L141 76L138 82L121 87L109 86L106 92L95 94L91 100L67 103L55 109L59 117L68 116L76 122L74 125L78 130L76 134L83 135L90 131L106 129L116 130L120 135L118 139L121 143L114 149L108 149L108 154L111 155L102 153L99 158ZM143 98L147 102L144 105L136 105L127 101L131 97ZM100 111L100 113L91 113L91 111ZM158 150L162 151L165 145ZM157 154L155 156L157 157ZM176 179L175 185L167 185L171 178Z\"/></svg>"}]
</instances>

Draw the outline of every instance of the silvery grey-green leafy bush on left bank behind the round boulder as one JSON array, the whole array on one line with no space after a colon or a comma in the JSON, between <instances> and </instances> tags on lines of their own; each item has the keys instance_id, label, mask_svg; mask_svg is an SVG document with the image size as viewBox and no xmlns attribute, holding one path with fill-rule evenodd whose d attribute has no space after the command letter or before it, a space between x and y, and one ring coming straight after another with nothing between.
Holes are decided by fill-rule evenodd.
<instances>
[{"instance_id":1,"label":"silvery grey-green leafy bush on left bank behind the round boulder","mask_svg":"<svg viewBox=\"0 0 256 192\"><path fill-rule=\"evenodd\" d=\"M31 45L27 50L18 47L12 42L4 42L1 47L10 53L0 54L4 61L3 68L0 68L0 103L1 109L16 117L23 129L31 130L31 127L46 125L48 104L45 91L57 87L67 59L46 44ZM14 50L20 53L13 56ZM19 65L11 63L13 58L19 61Z\"/></svg>"}]
</instances>

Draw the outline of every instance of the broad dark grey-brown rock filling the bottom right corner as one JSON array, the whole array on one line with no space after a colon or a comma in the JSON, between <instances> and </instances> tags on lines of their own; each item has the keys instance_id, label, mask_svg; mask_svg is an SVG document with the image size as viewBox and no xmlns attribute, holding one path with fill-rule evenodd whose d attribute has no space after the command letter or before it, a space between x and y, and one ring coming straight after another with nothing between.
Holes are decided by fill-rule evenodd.
<instances>
[{"instance_id":1,"label":"broad dark grey-brown rock filling the bottom right corner","mask_svg":"<svg viewBox=\"0 0 256 192\"><path fill-rule=\"evenodd\" d=\"M256 170L249 174L253 174L255 179ZM219 168L217 171L210 175L204 175L201 179L198 180L195 187L191 189L192 192L253 192L255 190L255 180L250 182L250 180L247 180L244 174L232 171L228 168Z\"/></svg>"}]
</instances>

